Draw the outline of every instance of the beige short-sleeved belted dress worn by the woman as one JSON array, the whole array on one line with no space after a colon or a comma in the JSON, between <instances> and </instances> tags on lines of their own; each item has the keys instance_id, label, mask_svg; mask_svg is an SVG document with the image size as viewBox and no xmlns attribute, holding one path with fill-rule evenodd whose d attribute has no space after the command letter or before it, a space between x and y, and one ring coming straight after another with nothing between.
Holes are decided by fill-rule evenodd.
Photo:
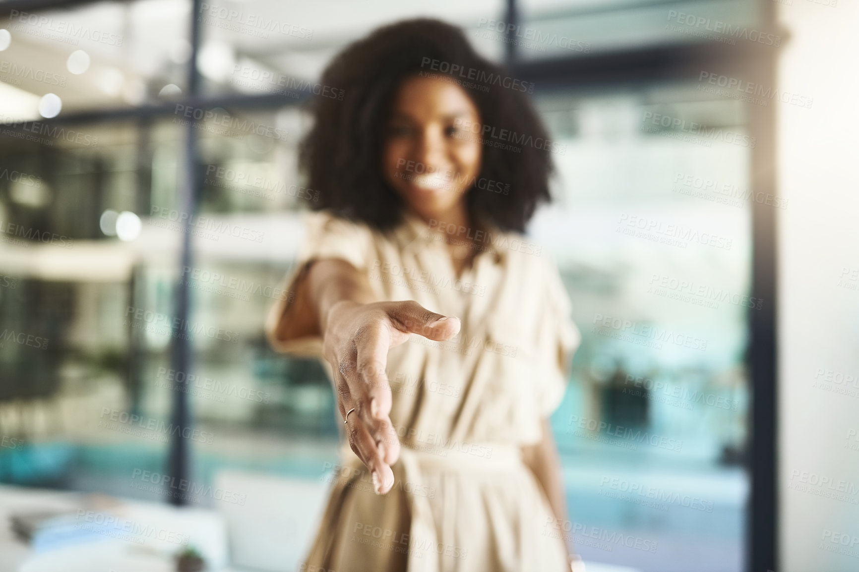
<instances>
[{"instance_id":1,"label":"beige short-sleeved belted dress worn by the woman","mask_svg":"<svg viewBox=\"0 0 859 572\"><path fill-rule=\"evenodd\" d=\"M541 439L541 421L563 398L564 364L581 339L549 254L493 229L479 237L485 249L457 278L445 243L417 216L388 234L325 212L307 222L300 263L347 260L367 272L381 300L415 300L460 318L462 327L442 343L413 334L388 353L391 420L402 444L395 484L375 495L344 443L302 570L569 570L550 505L520 448ZM286 278L290 290L305 268ZM290 311L289 297L273 307L269 331ZM321 357L321 340L292 339L277 349Z\"/></svg>"}]
</instances>

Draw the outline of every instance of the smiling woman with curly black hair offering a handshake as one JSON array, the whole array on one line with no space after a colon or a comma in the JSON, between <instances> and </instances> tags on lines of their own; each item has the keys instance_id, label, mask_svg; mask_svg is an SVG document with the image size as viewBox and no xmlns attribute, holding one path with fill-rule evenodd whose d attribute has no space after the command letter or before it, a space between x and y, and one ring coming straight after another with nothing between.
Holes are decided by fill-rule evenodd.
<instances>
[{"instance_id":1,"label":"smiling woman with curly black hair offering a handshake","mask_svg":"<svg viewBox=\"0 0 859 572\"><path fill-rule=\"evenodd\" d=\"M344 100L316 101L302 147L320 212L266 326L331 366L349 441L302 569L570 569L546 419L580 337L521 235L551 162L514 79L431 20L323 75Z\"/></svg>"}]
</instances>

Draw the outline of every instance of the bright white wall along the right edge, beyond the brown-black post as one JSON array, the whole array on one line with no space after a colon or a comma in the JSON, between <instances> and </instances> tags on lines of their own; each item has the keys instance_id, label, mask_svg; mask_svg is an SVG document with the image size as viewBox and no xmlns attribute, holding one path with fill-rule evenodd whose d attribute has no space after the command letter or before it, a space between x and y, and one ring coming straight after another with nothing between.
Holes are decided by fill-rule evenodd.
<instances>
[{"instance_id":1,"label":"bright white wall along the right edge, beyond the brown-black post","mask_svg":"<svg viewBox=\"0 0 859 572\"><path fill-rule=\"evenodd\" d=\"M813 97L813 104L810 109L778 107L777 174L789 206L779 211L778 232L777 572L855 572L859 570L859 440L854 435L859 434L859 3L792 0L779 4L778 14L791 35L780 58L779 88ZM818 376L819 370L824 374ZM827 371L832 372L832 383L814 386L815 381L826 383ZM823 479L829 480L813 484Z\"/></svg>"}]
</instances>

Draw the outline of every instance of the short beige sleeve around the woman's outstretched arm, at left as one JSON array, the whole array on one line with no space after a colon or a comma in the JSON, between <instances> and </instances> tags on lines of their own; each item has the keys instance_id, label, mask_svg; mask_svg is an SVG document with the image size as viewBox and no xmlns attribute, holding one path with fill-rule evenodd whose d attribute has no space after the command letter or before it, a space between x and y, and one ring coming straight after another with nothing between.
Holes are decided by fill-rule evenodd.
<instances>
[{"instance_id":1,"label":"short beige sleeve around the woman's outstretched arm, at left","mask_svg":"<svg viewBox=\"0 0 859 572\"><path fill-rule=\"evenodd\" d=\"M342 259L358 270L367 268L372 231L364 224L333 216L326 211L311 212L305 216L305 238L299 249L295 265L283 278L280 290L283 296L271 307L265 320L265 333L271 347L295 356L322 356L320 336L277 339L274 332L282 319L289 320L295 313L295 293L307 276L310 263L318 259Z\"/></svg>"}]
</instances>

